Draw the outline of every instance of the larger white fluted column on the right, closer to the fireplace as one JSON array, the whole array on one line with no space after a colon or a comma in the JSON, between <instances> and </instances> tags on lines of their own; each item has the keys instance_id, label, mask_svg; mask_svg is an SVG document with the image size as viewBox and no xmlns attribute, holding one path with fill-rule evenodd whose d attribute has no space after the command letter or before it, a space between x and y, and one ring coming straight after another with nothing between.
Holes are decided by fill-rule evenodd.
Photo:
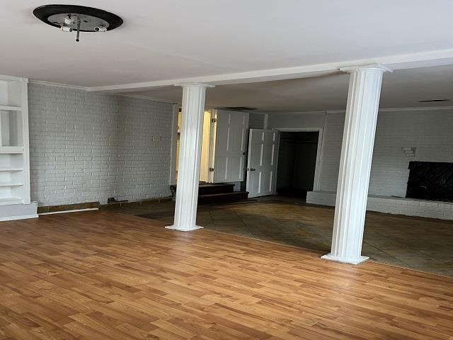
<instances>
[{"instance_id":1,"label":"larger white fluted column on the right, closer to the fireplace","mask_svg":"<svg viewBox=\"0 0 453 340\"><path fill-rule=\"evenodd\" d=\"M350 73L331 253L323 259L357 264L362 256L369 174L382 74L380 65L342 69Z\"/></svg>"}]
</instances>

